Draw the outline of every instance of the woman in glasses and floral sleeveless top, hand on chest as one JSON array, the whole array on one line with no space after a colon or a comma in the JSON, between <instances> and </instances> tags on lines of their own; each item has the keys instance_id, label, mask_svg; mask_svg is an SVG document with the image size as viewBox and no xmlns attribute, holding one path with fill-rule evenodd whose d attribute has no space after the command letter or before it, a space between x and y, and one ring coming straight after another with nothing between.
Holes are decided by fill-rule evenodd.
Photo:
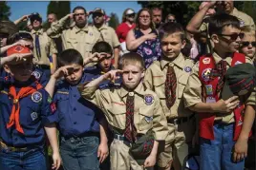
<instances>
[{"instance_id":1,"label":"woman in glasses and floral sleeveless top, hand on chest","mask_svg":"<svg viewBox=\"0 0 256 170\"><path fill-rule=\"evenodd\" d=\"M136 28L128 32L126 44L128 50L136 51L143 57L146 68L154 61L160 60L160 39L152 21L151 10L139 10Z\"/></svg>"}]
</instances>

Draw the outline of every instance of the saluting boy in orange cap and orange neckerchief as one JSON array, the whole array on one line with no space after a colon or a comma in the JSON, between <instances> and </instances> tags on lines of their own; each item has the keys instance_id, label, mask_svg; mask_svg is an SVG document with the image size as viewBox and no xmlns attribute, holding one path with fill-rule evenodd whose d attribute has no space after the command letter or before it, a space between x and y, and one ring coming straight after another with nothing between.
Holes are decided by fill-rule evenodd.
<instances>
[{"instance_id":1,"label":"saluting boy in orange cap and orange neckerchief","mask_svg":"<svg viewBox=\"0 0 256 170\"><path fill-rule=\"evenodd\" d=\"M52 98L32 76L30 49L9 48L7 57L0 59L2 66L14 81L0 79L0 169L46 170L45 132L53 147L53 168L58 169Z\"/></svg>"}]
</instances>

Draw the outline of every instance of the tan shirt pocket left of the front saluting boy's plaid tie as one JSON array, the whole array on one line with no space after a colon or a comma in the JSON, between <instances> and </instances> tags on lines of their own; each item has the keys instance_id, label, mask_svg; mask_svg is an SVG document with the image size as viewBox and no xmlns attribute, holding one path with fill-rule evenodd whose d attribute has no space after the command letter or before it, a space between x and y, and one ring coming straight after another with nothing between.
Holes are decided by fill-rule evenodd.
<instances>
[{"instance_id":1,"label":"tan shirt pocket left of the front saluting boy's plaid tie","mask_svg":"<svg viewBox=\"0 0 256 170\"><path fill-rule=\"evenodd\" d=\"M106 118L108 122L118 129L124 129L126 123L126 107L112 105L112 107L107 108L107 110L108 114L106 114Z\"/></svg>"}]
</instances>

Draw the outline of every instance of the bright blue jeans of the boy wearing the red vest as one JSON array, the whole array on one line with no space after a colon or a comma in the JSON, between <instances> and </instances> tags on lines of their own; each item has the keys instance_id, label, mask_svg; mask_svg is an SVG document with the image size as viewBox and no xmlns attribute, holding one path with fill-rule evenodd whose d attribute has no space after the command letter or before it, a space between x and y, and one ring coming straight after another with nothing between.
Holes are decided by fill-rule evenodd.
<instances>
[{"instance_id":1,"label":"bright blue jeans of the boy wearing the red vest","mask_svg":"<svg viewBox=\"0 0 256 170\"><path fill-rule=\"evenodd\" d=\"M200 139L201 170L244 170L245 160L232 161L234 123L216 123L213 141Z\"/></svg>"}]
</instances>

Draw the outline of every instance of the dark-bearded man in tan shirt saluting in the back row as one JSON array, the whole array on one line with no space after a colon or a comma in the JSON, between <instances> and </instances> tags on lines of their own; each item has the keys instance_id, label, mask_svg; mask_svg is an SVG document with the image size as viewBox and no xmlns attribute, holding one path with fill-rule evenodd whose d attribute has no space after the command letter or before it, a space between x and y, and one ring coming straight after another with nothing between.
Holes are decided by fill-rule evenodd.
<instances>
[{"instance_id":1,"label":"dark-bearded man in tan shirt saluting in the back row","mask_svg":"<svg viewBox=\"0 0 256 170\"><path fill-rule=\"evenodd\" d=\"M65 22L72 18L75 20L75 25L70 28L64 28ZM50 37L61 33L62 47L64 49L75 48L83 58L89 56L93 46L100 40L100 33L93 27L88 27L88 14L83 7L75 7L72 14L68 14L61 18L56 23L53 23L51 28L47 30Z\"/></svg>"}]
</instances>

